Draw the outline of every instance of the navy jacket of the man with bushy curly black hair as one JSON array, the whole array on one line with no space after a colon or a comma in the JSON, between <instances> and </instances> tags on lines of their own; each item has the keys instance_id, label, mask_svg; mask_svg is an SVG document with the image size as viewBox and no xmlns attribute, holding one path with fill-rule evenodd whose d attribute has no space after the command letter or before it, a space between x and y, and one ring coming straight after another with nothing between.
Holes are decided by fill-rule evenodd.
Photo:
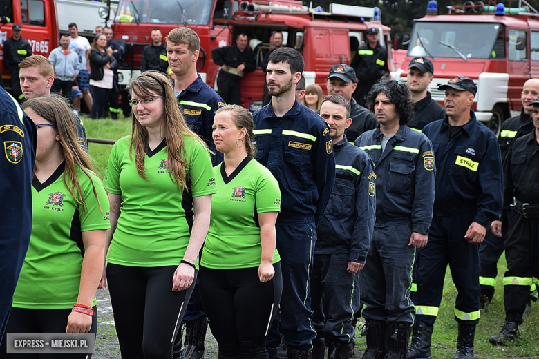
<instances>
[{"instance_id":1,"label":"navy jacket of the man with bushy curly black hair","mask_svg":"<svg viewBox=\"0 0 539 359\"><path fill-rule=\"evenodd\" d=\"M422 133L401 126L381 151L379 128L356 139L355 145L375 162L375 226L412 224L412 231L428 234L433 218L435 164L431 142Z\"/></svg>"}]
</instances>

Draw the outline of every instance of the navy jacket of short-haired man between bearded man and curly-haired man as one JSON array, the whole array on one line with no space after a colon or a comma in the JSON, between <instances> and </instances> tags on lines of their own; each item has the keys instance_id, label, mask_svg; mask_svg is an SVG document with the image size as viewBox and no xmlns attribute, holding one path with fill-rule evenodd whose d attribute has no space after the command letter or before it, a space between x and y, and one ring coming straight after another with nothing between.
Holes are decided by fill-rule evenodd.
<instances>
[{"instance_id":1,"label":"navy jacket of short-haired man between bearded man and curly-haired man","mask_svg":"<svg viewBox=\"0 0 539 359\"><path fill-rule=\"evenodd\" d=\"M346 136L334 144L333 154L335 184L314 254L348 253L348 260L365 264L376 215L374 164Z\"/></svg>"}]
</instances>

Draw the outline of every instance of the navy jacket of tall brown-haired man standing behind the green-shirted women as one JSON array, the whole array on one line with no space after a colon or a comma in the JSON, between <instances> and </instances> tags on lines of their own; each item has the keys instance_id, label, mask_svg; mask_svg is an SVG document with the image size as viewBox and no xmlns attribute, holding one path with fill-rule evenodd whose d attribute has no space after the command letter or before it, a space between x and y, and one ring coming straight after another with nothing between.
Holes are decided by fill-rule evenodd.
<instances>
[{"instance_id":1,"label":"navy jacket of tall brown-haired man standing behind the green-shirted women","mask_svg":"<svg viewBox=\"0 0 539 359\"><path fill-rule=\"evenodd\" d=\"M172 87L174 87L174 83L172 83ZM225 102L213 88L202 81L200 75L176 98L185 117L185 122L194 133L204 139L209 150L214 153L211 155L211 164L217 166L223 162L223 153L215 148L214 139L211 136L211 126L214 124L216 110L225 107Z\"/></svg>"}]
</instances>

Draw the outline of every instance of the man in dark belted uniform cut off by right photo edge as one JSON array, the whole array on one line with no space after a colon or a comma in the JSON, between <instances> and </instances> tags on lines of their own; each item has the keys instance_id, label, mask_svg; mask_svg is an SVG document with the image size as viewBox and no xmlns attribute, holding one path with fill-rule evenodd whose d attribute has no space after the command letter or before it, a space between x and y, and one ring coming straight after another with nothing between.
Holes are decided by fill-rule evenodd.
<instances>
[{"instance_id":1,"label":"man in dark belted uniform cut off by right photo edge","mask_svg":"<svg viewBox=\"0 0 539 359\"><path fill-rule=\"evenodd\" d=\"M520 336L531 286L539 285L539 100L531 106L534 130L513 141L504 166L505 321L502 331L489 338L492 344ZM492 222L491 229L502 236L502 222Z\"/></svg>"}]
</instances>

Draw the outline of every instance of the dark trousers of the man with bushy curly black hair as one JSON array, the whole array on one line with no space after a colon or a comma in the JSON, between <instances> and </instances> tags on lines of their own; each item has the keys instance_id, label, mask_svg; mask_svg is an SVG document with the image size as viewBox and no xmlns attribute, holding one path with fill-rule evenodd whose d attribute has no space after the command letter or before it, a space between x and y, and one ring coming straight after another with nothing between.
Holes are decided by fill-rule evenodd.
<instances>
[{"instance_id":1,"label":"dark trousers of the man with bushy curly black hair","mask_svg":"<svg viewBox=\"0 0 539 359\"><path fill-rule=\"evenodd\" d=\"M415 247L408 246L411 224L375 227L366 265L359 271L361 312L368 320L413 324L409 298ZM393 289L388 291L388 289Z\"/></svg>"}]
</instances>

